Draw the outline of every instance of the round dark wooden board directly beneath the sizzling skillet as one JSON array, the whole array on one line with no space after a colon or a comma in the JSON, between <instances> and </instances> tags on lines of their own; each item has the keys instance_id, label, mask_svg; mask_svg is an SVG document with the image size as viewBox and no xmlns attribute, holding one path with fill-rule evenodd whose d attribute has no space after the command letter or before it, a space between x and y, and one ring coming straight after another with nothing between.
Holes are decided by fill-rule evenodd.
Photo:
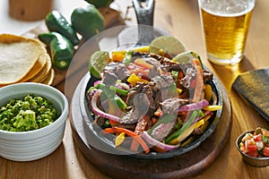
<instances>
[{"instance_id":1,"label":"round dark wooden board directly beneath the sizzling skillet","mask_svg":"<svg viewBox=\"0 0 269 179\"><path fill-rule=\"evenodd\" d=\"M220 84L221 85L221 84ZM74 91L72 116L70 117L74 141L82 153L100 172L112 178L188 178L202 172L213 164L215 158L226 145L231 130L230 98L220 87L223 97L221 121L212 135L201 145L183 155L163 158L145 159L123 155L112 155L91 147L87 133L89 125L82 118L79 98L81 97L82 81ZM90 132L91 133L91 132Z\"/></svg>"}]
</instances>

